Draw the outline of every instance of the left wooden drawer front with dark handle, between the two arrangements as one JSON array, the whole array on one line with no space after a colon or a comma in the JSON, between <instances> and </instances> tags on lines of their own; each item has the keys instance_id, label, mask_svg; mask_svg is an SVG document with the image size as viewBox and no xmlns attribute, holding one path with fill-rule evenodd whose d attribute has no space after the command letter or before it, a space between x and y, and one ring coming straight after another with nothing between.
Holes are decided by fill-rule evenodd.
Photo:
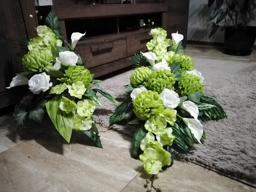
<instances>
[{"instance_id":1,"label":"left wooden drawer front with dark handle, between the two arrangements","mask_svg":"<svg viewBox=\"0 0 256 192\"><path fill-rule=\"evenodd\" d=\"M127 57L126 35L81 41L75 49L89 69Z\"/></svg>"}]
</instances>

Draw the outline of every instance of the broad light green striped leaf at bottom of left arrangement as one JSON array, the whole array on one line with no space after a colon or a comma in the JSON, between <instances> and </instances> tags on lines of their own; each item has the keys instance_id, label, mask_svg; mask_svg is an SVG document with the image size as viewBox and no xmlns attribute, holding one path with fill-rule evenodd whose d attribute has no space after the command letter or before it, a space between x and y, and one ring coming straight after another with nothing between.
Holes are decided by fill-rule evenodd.
<instances>
[{"instance_id":1,"label":"broad light green striped leaf at bottom of left arrangement","mask_svg":"<svg viewBox=\"0 0 256 192\"><path fill-rule=\"evenodd\" d=\"M72 134L74 114L66 113L59 109L60 98L61 95L56 95L48 101L45 106L53 125L67 143L69 143Z\"/></svg>"}]
</instances>

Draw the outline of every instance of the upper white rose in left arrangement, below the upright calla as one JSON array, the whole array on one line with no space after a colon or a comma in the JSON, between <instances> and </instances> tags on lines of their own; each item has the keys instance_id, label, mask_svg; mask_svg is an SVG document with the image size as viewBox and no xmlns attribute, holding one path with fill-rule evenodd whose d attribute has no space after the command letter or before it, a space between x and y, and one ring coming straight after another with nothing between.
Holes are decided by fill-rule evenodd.
<instances>
[{"instance_id":1,"label":"upper white rose in left arrangement, below the upright calla","mask_svg":"<svg viewBox=\"0 0 256 192\"><path fill-rule=\"evenodd\" d=\"M59 52L58 59L64 66L73 66L77 63L78 56L72 51Z\"/></svg>"}]
</instances>

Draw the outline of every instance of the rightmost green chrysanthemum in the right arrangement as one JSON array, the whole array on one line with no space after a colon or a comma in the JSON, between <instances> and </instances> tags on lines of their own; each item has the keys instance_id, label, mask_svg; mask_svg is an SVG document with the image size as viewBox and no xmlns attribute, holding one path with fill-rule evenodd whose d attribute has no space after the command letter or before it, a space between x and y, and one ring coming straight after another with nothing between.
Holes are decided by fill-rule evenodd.
<instances>
[{"instance_id":1,"label":"rightmost green chrysanthemum in the right arrangement","mask_svg":"<svg viewBox=\"0 0 256 192\"><path fill-rule=\"evenodd\" d=\"M182 75L182 79L179 81L179 89L181 89L182 95L189 95L196 91L203 91L203 83L196 75L184 74Z\"/></svg>"}]
</instances>

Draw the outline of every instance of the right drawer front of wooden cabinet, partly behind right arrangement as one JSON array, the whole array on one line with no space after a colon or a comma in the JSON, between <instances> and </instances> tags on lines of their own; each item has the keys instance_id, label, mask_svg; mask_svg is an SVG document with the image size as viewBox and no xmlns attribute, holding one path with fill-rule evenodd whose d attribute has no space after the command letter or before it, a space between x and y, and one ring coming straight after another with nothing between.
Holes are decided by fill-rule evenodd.
<instances>
[{"instance_id":1,"label":"right drawer front of wooden cabinet, partly behind right arrangement","mask_svg":"<svg viewBox=\"0 0 256 192\"><path fill-rule=\"evenodd\" d=\"M141 32L127 35L127 56L146 51L146 43L152 39L148 32Z\"/></svg>"}]
</instances>

